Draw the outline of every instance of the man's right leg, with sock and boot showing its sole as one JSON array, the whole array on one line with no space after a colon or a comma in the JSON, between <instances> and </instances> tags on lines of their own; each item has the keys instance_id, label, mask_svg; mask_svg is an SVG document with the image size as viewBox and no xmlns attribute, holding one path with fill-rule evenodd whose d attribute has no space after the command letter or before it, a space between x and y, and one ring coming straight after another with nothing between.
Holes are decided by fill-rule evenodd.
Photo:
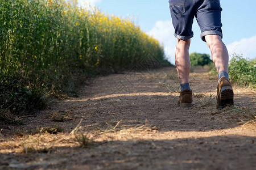
<instances>
[{"instance_id":1,"label":"man's right leg, with sock and boot showing its sole","mask_svg":"<svg viewBox=\"0 0 256 170\"><path fill-rule=\"evenodd\" d=\"M205 41L212 53L212 60L218 71L217 109L234 104L234 92L229 82L229 54L219 35L207 35Z\"/></svg>"}]
</instances>

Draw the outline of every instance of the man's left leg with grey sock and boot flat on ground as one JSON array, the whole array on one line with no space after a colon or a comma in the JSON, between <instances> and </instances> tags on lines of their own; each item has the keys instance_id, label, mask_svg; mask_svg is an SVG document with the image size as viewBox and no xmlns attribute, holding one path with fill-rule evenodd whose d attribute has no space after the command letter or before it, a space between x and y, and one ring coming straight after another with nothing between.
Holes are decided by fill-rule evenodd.
<instances>
[{"instance_id":1,"label":"man's left leg with grey sock and boot flat on ground","mask_svg":"<svg viewBox=\"0 0 256 170\"><path fill-rule=\"evenodd\" d=\"M180 79L180 97L178 105L180 107L192 106L192 91L189 87L189 71L190 71L190 58L189 58L190 39L180 40L177 39L177 47L175 53L175 64L177 74Z\"/></svg>"}]
</instances>

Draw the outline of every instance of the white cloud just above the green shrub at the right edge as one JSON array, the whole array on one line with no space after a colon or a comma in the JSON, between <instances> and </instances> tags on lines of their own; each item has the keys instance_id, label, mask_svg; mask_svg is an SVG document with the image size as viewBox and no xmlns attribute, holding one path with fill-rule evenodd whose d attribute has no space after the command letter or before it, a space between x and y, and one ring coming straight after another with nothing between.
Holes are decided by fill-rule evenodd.
<instances>
[{"instance_id":1,"label":"white cloud just above the green shrub at the right edge","mask_svg":"<svg viewBox=\"0 0 256 170\"><path fill-rule=\"evenodd\" d=\"M228 44L229 54L237 53L243 54L243 57L253 59L256 57L256 35L248 39L241 39L240 41L234 41Z\"/></svg>"}]
</instances>

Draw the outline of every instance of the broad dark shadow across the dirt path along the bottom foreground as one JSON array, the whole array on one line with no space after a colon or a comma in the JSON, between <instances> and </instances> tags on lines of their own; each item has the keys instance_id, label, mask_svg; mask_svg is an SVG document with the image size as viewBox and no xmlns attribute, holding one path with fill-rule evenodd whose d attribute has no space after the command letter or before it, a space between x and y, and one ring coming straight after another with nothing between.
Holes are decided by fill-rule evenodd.
<instances>
[{"instance_id":1,"label":"broad dark shadow across the dirt path along the bottom foreground","mask_svg":"<svg viewBox=\"0 0 256 170\"><path fill-rule=\"evenodd\" d=\"M111 141L48 153L1 154L2 169L253 169L255 138L221 136ZM25 161L24 161L25 160Z\"/></svg>"}]
</instances>

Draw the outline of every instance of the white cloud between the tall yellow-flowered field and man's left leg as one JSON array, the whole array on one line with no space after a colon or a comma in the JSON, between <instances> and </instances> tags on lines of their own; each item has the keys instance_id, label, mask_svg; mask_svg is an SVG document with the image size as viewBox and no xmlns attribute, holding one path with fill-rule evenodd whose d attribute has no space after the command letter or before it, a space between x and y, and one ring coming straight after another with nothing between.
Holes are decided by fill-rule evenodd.
<instances>
[{"instance_id":1,"label":"white cloud between the tall yellow-flowered field and man's left leg","mask_svg":"<svg viewBox=\"0 0 256 170\"><path fill-rule=\"evenodd\" d=\"M166 54L168 61L174 64L177 39L174 36L172 22L159 20L147 34L153 36L164 45L164 53Z\"/></svg>"}]
</instances>

